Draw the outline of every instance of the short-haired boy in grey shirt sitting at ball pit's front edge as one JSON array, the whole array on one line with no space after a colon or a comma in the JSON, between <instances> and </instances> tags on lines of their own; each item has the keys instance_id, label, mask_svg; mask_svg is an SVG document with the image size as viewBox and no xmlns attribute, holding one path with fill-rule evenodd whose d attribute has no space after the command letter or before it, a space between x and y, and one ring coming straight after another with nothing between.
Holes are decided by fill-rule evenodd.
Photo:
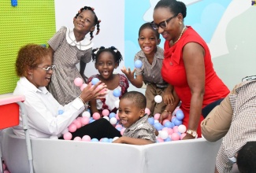
<instances>
[{"instance_id":1,"label":"short-haired boy in grey shirt sitting at ball pit's front edge","mask_svg":"<svg viewBox=\"0 0 256 173\"><path fill-rule=\"evenodd\" d=\"M145 96L137 91L130 91L122 96L118 116L126 129L123 136L113 143L147 145L156 142L158 131L147 121L146 104Z\"/></svg>"}]
</instances>

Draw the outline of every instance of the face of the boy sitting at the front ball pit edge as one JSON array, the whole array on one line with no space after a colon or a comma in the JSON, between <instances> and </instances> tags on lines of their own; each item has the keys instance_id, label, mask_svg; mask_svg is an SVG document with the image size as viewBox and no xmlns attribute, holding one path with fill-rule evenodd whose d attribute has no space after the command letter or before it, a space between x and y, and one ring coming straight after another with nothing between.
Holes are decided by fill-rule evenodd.
<instances>
[{"instance_id":1,"label":"face of the boy sitting at the front ball pit edge","mask_svg":"<svg viewBox=\"0 0 256 173\"><path fill-rule=\"evenodd\" d=\"M133 123L143 117L145 114L145 109L139 109L138 106L132 100L127 98L121 98L119 102L118 116L120 118L120 123L123 124L125 128L130 127Z\"/></svg>"}]
</instances>

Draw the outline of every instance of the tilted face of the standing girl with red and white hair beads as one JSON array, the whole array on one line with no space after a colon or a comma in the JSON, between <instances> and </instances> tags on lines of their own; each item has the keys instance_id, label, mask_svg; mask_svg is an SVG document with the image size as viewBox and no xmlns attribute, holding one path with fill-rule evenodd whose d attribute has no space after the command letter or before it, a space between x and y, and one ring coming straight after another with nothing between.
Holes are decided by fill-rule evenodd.
<instances>
[{"instance_id":1,"label":"tilted face of the standing girl with red and white hair beads","mask_svg":"<svg viewBox=\"0 0 256 173\"><path fill-rule=\"evenodd\" d=\"M95 30L95 15L91 10L84 10L74 21L76 31L86 32Z\"/></svg>"}]
</instances>

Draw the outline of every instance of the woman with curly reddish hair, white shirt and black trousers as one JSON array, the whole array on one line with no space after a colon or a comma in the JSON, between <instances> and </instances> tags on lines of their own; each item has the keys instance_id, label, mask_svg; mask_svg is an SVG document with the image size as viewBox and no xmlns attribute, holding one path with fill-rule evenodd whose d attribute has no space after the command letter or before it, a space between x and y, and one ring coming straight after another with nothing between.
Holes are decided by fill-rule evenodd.
<instances>
[{"instance_id":1,"label":"woman with curly reddish hair, white shirt and black trousers","mask_svg":"<svg viewBox=\"0 0 256 173\"><path fill-rule=\"evenodd\" d=\"M87 107L87 101L103 98L106 92L104 83L98 82L95 86L88 84L79 97L68 105L60 105L58 101L46 90L53 75L53 57L50 49L43 46L28 44L21 47L17 55L16 71L20 76L13 94L25 96L25 109L28 115L29 133L32 138L50 138L51 135L62 138L67 127ZM13 132L24 136L22 120ZM89 123L72 132L72 138L89 135L91 138L120 137L108 120L100 119Z\"/></svg>"}]
</instances>

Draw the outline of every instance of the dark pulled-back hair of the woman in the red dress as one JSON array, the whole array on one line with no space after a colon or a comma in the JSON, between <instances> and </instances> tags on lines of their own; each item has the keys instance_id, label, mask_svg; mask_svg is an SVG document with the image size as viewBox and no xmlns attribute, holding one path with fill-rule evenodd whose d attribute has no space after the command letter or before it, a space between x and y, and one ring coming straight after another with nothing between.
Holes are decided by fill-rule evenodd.
<instances>
[{"instance_id":1,"label":"dark pulled-back hair of the woman in the red dress","mask_svg":"<svg viewBox=\"0 0 256 173\"><path fill-rule=\"evenodd\" d=\"M183 18L187 16L187 7L184 2L176 0L161 0L157 3L154 9L158 9L159 7L169 8L170 12L173 12L174 15L181 13Z\"/></svg>"}]
</instances>

